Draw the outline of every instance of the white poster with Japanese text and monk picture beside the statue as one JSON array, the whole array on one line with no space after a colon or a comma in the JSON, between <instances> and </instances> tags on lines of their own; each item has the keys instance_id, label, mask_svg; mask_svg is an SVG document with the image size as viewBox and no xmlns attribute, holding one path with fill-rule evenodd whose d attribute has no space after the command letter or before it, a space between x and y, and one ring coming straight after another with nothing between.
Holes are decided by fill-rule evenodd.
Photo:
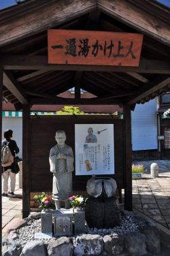
<instances>
[{"instance_id":1,"label":"white poster with Japanese text and monk picture beside the statue","mask_svg":"<svg viewBox=\"0 0 170 256\"><path fill-rule=\"evenodd\" d=\"M114 125L75 125L75 175L114 174Z\"/></svg>"}]
</instances>

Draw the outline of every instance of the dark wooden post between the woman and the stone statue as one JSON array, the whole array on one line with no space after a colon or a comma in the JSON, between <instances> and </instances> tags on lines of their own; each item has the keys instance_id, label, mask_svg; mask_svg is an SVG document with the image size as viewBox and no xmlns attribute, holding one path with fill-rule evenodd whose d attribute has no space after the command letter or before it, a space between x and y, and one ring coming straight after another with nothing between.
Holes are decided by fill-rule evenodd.
<instances>
[{"instance_id":1,"label":"dark wooden post between the woman and the stone statue","mask_svg":"<svg viewBox=\"0 0 170 256\"><path fill-rule=\"evenodd\" d=\"M22 218L30 213L30 106L23 105L22 118Z\"/></svg>"}]
</instances>

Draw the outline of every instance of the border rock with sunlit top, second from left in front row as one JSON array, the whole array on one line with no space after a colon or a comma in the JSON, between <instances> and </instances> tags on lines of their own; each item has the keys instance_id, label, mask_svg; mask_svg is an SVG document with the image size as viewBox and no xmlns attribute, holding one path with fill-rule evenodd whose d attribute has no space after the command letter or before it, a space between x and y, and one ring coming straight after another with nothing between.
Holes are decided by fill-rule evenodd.
<instances>
[{"instance_id":1,"label":"border rock with sunlit top, second from left in front row","mask_svg":"<svg viewBox=\"0 0 170 256\"><path fill-rule=\"evenodd\" d=\"M31 241L25 244L20 256L46 256L44 244L40 241Z\"/></svg>"}]
</instances>

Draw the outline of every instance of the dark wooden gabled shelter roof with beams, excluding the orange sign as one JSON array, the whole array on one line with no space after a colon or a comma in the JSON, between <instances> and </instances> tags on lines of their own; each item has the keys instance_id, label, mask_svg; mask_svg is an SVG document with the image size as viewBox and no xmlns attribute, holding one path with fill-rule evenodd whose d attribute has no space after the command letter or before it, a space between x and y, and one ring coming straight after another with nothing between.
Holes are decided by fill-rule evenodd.
<instances>
[{"instance_id":1,"label":"dark wooden gabled shelter roof with beams, excluding the orange sign","mask_svg":"<svg viewBox=\"0 0 170 256\"><path fill-rule=\"evenodd\" d=\"M139 67L48 65L48 29L142 33ZM23 104L145 103L170 88L170 9L152 0L29 0L0 12L3 99ZM75 99L57 97L75 87ZM95 95L81 99L80 88Z\"/></svg>"}]
</instances>

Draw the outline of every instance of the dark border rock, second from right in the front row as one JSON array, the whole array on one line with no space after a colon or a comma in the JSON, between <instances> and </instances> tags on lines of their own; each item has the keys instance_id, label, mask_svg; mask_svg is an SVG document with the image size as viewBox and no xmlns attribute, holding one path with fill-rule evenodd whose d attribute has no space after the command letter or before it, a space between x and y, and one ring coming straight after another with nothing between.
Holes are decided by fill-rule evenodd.
<instances>
[{"instance_id":1,"label":"dark border rock, second from right in the front row","mask_svg":"<svg viewBox=\"0 0 170 256\"><path fill-rule=\"evenodd\" d=\"M146 251L146 237L138 232L127 233L124 235L124 251L132 255L142 255Z\"/></svg>"}]
</instances>

